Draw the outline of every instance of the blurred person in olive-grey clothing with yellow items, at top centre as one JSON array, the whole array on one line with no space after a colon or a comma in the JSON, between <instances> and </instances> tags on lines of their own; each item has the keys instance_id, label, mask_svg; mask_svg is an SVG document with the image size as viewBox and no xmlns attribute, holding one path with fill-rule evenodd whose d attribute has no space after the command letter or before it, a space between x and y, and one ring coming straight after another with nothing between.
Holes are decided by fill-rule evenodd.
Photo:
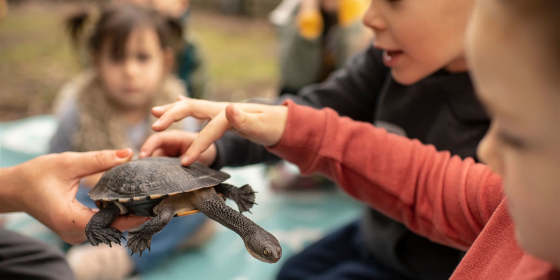
<instances>
[{"instance_id":1,"label":"blurred person in olive-grey clothing with yellow items, at top centre","mask_svg":"<svg viewBox=\"0 0 560 280\"><path fill-rule=\"evenodd\" d=\"M279 27L280 94L322 82L370 44L362 0L284 0L270 15Z\"/></svg>"}]
</instances>

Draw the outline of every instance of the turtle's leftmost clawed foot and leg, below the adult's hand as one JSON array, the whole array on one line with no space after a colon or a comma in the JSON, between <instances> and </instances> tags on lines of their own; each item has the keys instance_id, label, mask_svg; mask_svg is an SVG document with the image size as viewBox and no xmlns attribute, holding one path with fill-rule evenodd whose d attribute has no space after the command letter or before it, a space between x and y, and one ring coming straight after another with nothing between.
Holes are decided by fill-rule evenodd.
<instances>
[{"instance_id":1,"label":"turtle's leftmost clawed foot and leg, below the adult's hand","mask_svg":"<svg viewBox=\"0 0 560 280\"><path fill-rule=\"evenodd\" d=\"M105 243L111 246L111 242L120 245L120 239L123 239L123 232L116 228L110 227L111 223L119 216L120 209L115 203L109 202L105 208L99 209L86 225L87 240L91 245L97 246Z\"/></svg>"}]
</instances>

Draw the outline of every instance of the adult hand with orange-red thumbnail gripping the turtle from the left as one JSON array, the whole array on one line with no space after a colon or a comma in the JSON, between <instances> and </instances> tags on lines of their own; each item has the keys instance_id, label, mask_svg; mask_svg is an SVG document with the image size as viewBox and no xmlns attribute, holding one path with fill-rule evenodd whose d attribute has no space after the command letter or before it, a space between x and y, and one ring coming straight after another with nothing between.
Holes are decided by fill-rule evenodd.
<instances>
[{"instance_id":1,"label":"adult hand with orange-red thumbnail gripping the turtle from the left","mask_svg":"<svg viewBox=\"0 0 560 280\"><path fill-rule=\"evenodd\" d=\"M1 169L0 212L24 211L64 241L86 240L85 228L95 211L76 200L80 179L105 171L132 158L132 150L64 152L36 157ZM113 227L137 227L144 217L120 216Z\"/></svg>"}]
</instances>

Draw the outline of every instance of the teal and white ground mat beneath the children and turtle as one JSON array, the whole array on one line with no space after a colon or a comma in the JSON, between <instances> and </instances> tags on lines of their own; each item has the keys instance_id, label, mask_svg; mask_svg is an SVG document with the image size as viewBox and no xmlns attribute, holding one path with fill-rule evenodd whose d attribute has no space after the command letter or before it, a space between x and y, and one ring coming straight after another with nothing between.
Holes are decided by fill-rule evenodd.
<instances>
[{"instance_id":1,"label":"teal and white ground mat beneath the children and turtle","mask_svg":"<svg viewBox=\"0 0 560 280\"><path fill-rule=\"evenodd\" d=\"M56 128L50 115L0 123L0 166L12 166L48 150ZM259 262L246 251L234 232L217 224L216 234L199 249L171 255L162 265L135 279L274 279L282 263L311 242L356 219L361 206L337 189L276 192L269 187L264 165L224 168L231 174L226 182L250 184L258 192L258 205L246 216L275 235L282 245L282 259L276 264ZM237 209L233 202L228 205ZM48 209L46 209L48 211ZM4 226L35 236L64 248L64 244L31 217L22 213L4 214ZM1 237L0 237L1 238Z\"/></svg>"}]
</instances>

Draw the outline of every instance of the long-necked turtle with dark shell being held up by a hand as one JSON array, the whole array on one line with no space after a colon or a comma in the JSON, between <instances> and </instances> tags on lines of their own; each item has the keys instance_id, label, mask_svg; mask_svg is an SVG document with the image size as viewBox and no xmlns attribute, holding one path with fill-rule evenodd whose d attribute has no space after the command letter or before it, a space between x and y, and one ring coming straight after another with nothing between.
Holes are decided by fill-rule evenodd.
<instances>
[{"instance_id":1,"label":"long-necked turtle with dark shell being held up by a hand","mask_svg":"<svg viewBox=\"0 0 560 280\"><path fill-rule=\"evenodd\" d=\"M238 188L222 183L228 178L197 162L182 166L176 157L146 157L115 166L88 193L100 210L86 225L87 239L94 246L120 245L123 232L110 227L119 214L152 217L128 231L131 255L142 256L143 250L150 250L152 236L171 218L202 212L236 232L254 258L278 262L282 248L276 237L242 214L255 204L255 192L250 185ZM226 198L237 203L239 212L226 205Z\"/></svg>"}]
</instances>

